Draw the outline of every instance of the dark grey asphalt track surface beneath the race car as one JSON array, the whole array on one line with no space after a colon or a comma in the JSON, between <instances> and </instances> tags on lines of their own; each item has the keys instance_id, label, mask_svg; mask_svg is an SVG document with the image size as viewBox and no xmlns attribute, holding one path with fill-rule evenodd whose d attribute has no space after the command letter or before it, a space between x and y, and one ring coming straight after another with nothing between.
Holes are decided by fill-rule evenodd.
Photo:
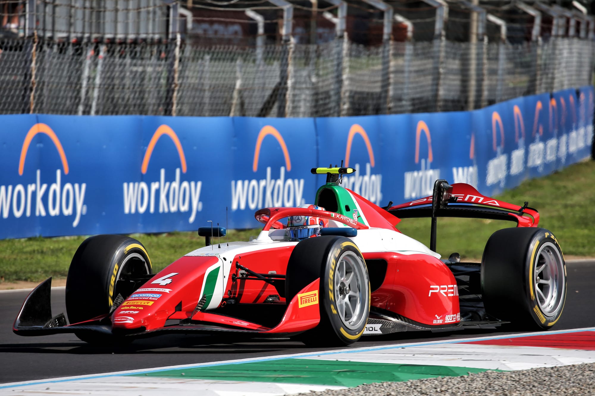
<instances>
[{"instance_id":1,"label":"dark grey asphalt track surface beneath the race car","mask_svg":"<svg viewBox=\"0 0 595 396\"><path fill-rule=\"evenodd\" d=\"M595 260L567 264L568 295L562 318L554 329L595 326ZM44 337L19 337L12 332L12 322L27 296L27 291L0 293L0 384L5 382L87 375L118 370L147 369L175 364L217 362L220 360L266 357L277 354L321 351L289 340L223 340L209 336L165 335L134 341L126 347L99 348L79 341L73 334ZM64 289L52 290L52 313L65 312ZM457 338L504 335L507 332L470 330L431 333L405 332L364 337L357 347L456 340ZM336 349L336 348L334 348ZM232 378L230 378L232 379Z\"/></svg>"}]
</instances>

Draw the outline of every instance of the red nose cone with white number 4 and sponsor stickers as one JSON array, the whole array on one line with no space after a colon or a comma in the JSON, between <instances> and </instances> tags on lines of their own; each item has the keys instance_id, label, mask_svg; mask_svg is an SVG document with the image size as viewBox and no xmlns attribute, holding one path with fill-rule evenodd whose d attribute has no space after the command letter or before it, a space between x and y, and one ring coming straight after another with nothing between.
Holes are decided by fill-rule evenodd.
<instances>
[{"instance_id":1,"label":"red nose cone with white number 4 and sponsor stickers","mask_svg":"<svg viewBox=\"0 0 595 396\"><path fill-rule=\"evenodd\" d=\"M129 331L162 327L176 308L192 311L203 295L208 307L216 307L223 298L223 277L217 256L181 257L126 298L112 314L112 326Z\"/></svg>"}]
</instances>

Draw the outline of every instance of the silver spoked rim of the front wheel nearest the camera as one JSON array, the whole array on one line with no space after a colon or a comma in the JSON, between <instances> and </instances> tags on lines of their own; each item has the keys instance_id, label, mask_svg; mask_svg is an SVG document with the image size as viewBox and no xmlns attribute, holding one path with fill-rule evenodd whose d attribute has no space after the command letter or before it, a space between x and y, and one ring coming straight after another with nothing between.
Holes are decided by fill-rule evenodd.
<instances>
[{"instance_id":1,"label":"silver spoked rim of the front wheel nearest the camera","mask_svg":"<svg viewBox=\"0 0 595 396\"><path fill-rule=\"evenodd\" d=\"M350 251L339 257L334 271L334 298L346 328L356 330L366 320L368 282L361 258Z\"/></svg>"}]
</instances>

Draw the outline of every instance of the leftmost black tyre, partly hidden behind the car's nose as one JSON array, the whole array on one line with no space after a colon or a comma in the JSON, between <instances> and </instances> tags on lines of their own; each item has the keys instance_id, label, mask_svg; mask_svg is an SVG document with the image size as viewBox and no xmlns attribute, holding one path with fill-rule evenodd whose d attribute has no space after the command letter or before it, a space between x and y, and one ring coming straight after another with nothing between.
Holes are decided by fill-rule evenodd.
<instances>
[{"instance_id":1,"label":"leftmost black tyre, partly hidden behind the car's nose","mask_svg":"<svg viewBox=\"0 0 595 396\"><path fill-rule=\"evenodd\" d=\"M70 323L107 315L120 295L126 299L134 291L127 279L152 274L145 247L123 235L95 235L80 244L68 268L66 313ZM109 335L75 333L90 343L112 341Z\"/></svg>"}]
</instances>

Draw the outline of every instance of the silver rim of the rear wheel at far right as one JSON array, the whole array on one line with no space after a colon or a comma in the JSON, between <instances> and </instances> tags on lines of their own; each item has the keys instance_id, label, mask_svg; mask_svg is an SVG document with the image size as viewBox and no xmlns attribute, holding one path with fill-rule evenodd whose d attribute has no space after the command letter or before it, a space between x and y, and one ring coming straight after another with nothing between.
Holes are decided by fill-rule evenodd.
<instances>
[{"instance_id":1,"label":"silver rim of the rear wheel at far right","mask_svg":"<svg viewBox=\"0 0 595 396\"><path fill-rule=\"evenodd\" d=\"M556 316L562 307L565 290L562 255L551 242L541 245L537 252L533 286L537 305L543 315Z\"/></svg>"}]
</instances>

